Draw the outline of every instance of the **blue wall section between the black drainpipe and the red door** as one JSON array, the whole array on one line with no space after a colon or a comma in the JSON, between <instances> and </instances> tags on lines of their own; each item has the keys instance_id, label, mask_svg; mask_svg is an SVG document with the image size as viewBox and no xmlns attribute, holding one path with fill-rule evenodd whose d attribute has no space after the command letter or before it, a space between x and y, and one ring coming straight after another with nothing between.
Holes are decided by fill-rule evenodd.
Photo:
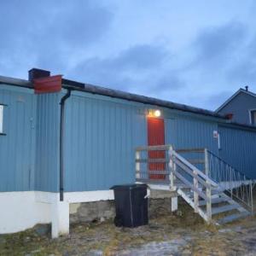
<instances>
[{"instance_id":1,"label":"blue wall section between the black drainpipe and the red door","mask_svg":"<svg viewBox=\"0 0 256 256\"><path fill-rule=\"evenodd\" d=\"M135 182L134 148L147 144L143 109L85 96L66 103L65 190Z\"/></svg>"}]
</instances>

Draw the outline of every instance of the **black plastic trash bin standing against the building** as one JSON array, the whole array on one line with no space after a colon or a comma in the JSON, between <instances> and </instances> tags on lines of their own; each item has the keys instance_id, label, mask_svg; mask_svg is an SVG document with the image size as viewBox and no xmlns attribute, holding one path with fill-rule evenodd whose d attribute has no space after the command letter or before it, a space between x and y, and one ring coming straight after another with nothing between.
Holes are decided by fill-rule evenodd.
<instances>
[{"instance_id":1,"label":"black plastic trash bin standing against the building","mask_svg":"<svg viewBox=\"0 0 256 256\"><path fill-rule=\"evenodd\" d=\"M134 228L148 224L148 198L146 184L113 186L115 211L114 224Z\"/></svg>"}]
</instances>

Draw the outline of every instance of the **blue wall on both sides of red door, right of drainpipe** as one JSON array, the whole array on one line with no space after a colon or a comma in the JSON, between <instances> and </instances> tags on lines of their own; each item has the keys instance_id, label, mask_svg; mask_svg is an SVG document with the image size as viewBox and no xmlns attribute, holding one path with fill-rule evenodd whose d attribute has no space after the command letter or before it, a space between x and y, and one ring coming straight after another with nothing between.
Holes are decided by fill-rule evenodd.
<instances>
[{"instance_id":1,"label":"blue wall on both sides of red door, right of drainpipe","mask_svg":"<svg viewBox=\"0 0 256 256\"><path fill-rule=\"evenodd\" d=\"M146 110L152 107L79 92L73 92L66 106L65 190L109 189L134 182L134 148L148 143ZM166 143L207 147L216 153L216 122L162 111Z\"/></svg>"}]
</instances>

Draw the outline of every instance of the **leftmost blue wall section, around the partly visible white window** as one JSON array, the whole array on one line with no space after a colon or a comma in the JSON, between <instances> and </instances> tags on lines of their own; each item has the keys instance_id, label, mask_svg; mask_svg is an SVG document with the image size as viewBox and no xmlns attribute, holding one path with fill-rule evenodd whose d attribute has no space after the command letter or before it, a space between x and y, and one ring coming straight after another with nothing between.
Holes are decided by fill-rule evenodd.
<instances>
[{"instance_id":1,"label":"leftmost blue wall section, around the partly visible white window","mask_svg":"<svg viewBox=\"0 0 256 256\"><path fill-rule=\"evenodd\" d=\"M36 97L30 90L1 85L3 131L0 136L0 191L33 189Z\"/></svg>"}]
</instances>

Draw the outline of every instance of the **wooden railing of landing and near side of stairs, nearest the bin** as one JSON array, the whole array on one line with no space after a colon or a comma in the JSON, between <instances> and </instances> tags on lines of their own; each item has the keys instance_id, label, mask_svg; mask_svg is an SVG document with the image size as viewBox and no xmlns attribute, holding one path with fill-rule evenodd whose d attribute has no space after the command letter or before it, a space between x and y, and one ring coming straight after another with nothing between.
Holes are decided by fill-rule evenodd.
<instances>
[{"instance_id":1,"label":"wooden railing of landing and near side of stairs, nearest the bin","mask_svg":"<svg viewBox=\"0 0 256 256\"><path fill-rule=\"evenodd\" d=\"M171 190L177 189L195 212L207 222L212 220L212 189L218 188L218 183L177 154L171 145L136 148L136 180L167 184ZM183 191L184 188L193 193L193 200ZM199 208L200 199L206 201L206 212Z\"/></svg>"}]
</instances>

